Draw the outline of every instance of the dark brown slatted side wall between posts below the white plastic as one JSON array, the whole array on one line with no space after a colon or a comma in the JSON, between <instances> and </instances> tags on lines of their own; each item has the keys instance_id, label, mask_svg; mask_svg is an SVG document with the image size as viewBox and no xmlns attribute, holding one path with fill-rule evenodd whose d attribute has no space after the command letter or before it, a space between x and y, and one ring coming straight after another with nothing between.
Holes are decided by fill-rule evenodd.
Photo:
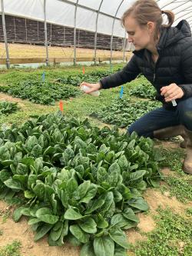
<instances>
[{"instance_id":1,"label":"dark brown slatted side wall between posts below the white plastic","mask_svg":"<svg viewBox=\"0 0 192 256\"><path fill-rule=\"evenodd\" d=\"M5 24L8 42L25 44L45 45L44 22L20 18L12 15L5 15ZM73 46L74 28L47 23L48 45ZM4 42L2 15L0 15L0 41ZM113 50L123 49L124 38L113 37ZM94 32L82 29L76 30L76 47L94 48ZM111 48L111 36L98 33L97 48Z\"/></svg>"}]
</instances>

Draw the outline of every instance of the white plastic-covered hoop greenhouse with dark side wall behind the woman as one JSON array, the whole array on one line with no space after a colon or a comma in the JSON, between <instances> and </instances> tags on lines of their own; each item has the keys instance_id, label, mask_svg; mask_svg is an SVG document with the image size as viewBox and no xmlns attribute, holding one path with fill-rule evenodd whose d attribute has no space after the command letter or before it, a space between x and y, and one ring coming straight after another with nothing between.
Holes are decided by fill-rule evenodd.
<instances>
[{"instance_id":1,"label":"white plastic-covered hoop greenhouse with dark side wall behind the woman","mask_svg":"<svg viewBox=\"0 0 192 256\"><path fill-rule=\"evenodd\" d=\"M59 62L59 57L49 56L48 45L69 46L73 48L70 60L74 64L77 48L92 48L91 60L96 63L98 48L110 51L111 62L114 51L121 51L121 60L127 60L125 52L132 50L127 42L127 33L121 26L121 16L133 0L1 0L0 41L5 42L0 64L10 66L8 42L45 45L43 62ZM162 10L172 10L175 14L174 25L181 19L192 24L192 2L187 0L157 0ZM165 15L164 15L165 18ZM166 19L164 20L166 22ZM64 52L64 51L63 51ZM6 53L6 54L5 54ZM65 55L62 55L65 57ZM119 58L119 57L118 57ZM69 58L61 58L61 61ZM83 60L86 60L86 56ZM25 59L30 62L29 59ZM37 61L37 58L36 58ZM11 59L11 63L17 61ZM31 62L35 59L31 58Z\"/></svg>"}]
</instances>

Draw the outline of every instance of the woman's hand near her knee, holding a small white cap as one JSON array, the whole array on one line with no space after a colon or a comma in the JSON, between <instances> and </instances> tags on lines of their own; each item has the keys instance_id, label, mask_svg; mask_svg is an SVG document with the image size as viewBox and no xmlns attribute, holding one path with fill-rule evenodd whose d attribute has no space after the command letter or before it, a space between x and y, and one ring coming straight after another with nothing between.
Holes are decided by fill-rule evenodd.
<instances>
[{"instance_id":1,"label":"woman's hand near her knee, holding a small white cap","mask_svg":"<svg viewBox=\"0 0 192 256\"><path fill-rule=\"evenodd\" d=\"M161 88L161 95L164 96L166 102L173 101L184 96L184 91L175 83Z\"/></svg>"}]
</instances>

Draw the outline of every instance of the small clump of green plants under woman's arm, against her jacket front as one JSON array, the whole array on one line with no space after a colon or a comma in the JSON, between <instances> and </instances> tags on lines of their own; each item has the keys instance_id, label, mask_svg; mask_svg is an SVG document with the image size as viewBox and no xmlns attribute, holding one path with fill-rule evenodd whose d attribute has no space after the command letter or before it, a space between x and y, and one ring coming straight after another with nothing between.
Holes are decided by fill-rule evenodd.
<instances>
[{"instance_id":1,"label":"small clump of green plants under woman's arm, against her jacket front","mask_svg":"<svg viewBox=\"0 0 192 256\"><path fill-rule=\"evenodd\" d=\"M145 82L143 84L132 87L129 91L129 95L133 95L138 98L151 98L151 100L154 100L156 90L150 82Z\"/></svg>"}]
</instances>

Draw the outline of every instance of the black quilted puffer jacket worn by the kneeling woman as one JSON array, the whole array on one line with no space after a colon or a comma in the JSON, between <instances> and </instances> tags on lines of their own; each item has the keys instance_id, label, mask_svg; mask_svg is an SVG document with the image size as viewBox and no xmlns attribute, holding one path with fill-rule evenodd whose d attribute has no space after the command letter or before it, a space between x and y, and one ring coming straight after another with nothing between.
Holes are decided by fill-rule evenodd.
<instances>
[{"instance_id":1,"label":"black quilted puffer jacket worn by the kneeling woman","mask_svg":"<svg viewBox=\"0 0 192 256\"><path fill-rule=\"evenodd\" d=\"M159 58L154 65L147 49L134 51L127 65L117 73L101 79L102 88L123 85L143 74L157 89L157 99L164 102L160 94L163 86L176 83L184 91L184 98L192 97L192 38L189 24L183 20L176 27L162 28L157 45ZM177 101L180 101L177 100Z\"/></svg>"}]
</instances>

